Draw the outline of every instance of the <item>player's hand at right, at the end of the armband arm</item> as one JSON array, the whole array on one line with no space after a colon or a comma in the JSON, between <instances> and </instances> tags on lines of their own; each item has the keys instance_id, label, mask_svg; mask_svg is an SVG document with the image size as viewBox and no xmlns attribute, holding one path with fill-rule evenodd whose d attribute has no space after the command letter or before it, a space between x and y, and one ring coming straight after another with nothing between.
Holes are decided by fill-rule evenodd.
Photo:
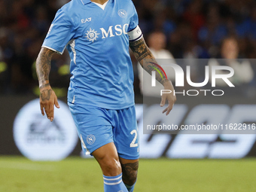
<instances>
[{"instance_id":1,"label":"player's hand at right, at the end of the armband arm","mask_svg":"<svg viewBox=\"0 0 256 192\"><path fill-rule=\"evenodd\" d=\"M166 99L168 101L168 107L163 110L163 114L166 112L166 115L172 110L172 107L176 101L176 96L174 95L174 88L171 81L166 81L163 84L164 90L171 90L172 93L163 93L160 106L163 107L166 104Z\"/></svg>"}]
</instances>

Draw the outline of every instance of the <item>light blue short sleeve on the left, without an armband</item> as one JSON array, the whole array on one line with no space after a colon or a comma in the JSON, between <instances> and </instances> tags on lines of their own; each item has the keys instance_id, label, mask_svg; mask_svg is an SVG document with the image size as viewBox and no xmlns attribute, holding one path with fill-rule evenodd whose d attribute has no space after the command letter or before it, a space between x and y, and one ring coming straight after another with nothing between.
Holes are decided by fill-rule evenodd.
<instances>
[{"instance_id":1,"label":"light blue short sleeve on the left, without an armband","mask_svg":"<svg viewBox=\"0 0 256 192\"><path fill-rule=\"evenodd\" d=\"M64 11L59 9L55 15L53 23L50 25L50 29L44 39L42 47L47 47L50 50L62 54L66 48L66 44L68 44L75 35L73 29L74 26L72 20Z\"/></svg>"}]
</instances>

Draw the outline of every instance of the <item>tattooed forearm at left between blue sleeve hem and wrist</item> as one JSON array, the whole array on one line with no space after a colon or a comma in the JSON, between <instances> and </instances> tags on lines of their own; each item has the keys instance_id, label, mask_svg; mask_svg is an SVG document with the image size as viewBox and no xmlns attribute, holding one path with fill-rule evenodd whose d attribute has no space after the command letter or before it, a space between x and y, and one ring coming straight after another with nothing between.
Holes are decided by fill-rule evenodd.
<instances>
[{"instance_id":1,"label":"tattooed forearm at left between blue sleeve hem and wrist","mask_svg":"<svg viewBox=\"0 0 256 192\"><path fill-rule=\"evenodd\" d=\"M44 86L45 81L49 81L50 74L50 60L55 53L53 50L42 48L38 58L36 59L36 73L40 86Z\"/></svg>"}]
</instances>

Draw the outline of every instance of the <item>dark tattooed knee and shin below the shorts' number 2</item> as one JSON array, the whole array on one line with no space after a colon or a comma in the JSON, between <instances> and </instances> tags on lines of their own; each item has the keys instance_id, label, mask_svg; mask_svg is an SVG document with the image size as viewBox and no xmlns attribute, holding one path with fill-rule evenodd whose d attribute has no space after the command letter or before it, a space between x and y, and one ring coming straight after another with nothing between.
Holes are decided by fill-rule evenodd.
<instances>
[{"instance_id":1,"label":"dark tattooed knee and shin below the shorts' number 2","mask_svg":"<svg viewBox=\"0 0 256 192\"><path fill-rule=\"evenodd\" d=\"M123 182L125 184L133 185L137 179L139 168L139 161L136 163L122 164Z\"/></svg>"}]
</instances>

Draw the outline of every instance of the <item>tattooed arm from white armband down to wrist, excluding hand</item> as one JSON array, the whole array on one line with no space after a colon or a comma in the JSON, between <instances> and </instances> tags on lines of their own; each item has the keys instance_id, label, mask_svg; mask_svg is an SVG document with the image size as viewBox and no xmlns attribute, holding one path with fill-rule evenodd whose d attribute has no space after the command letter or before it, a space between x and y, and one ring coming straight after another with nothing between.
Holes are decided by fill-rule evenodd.
<instances>
[{"instance_id":1,"label":"tattooed arm from white armband down to wrist, excluding hand","mask_svg":"<svg viewBox=\"0 0 256 192\"><path fill-rule=\"evenodd\" d=\"M157 81L160 82L160 84L164 84L166 81L169 81L164 76L163 71L154 63L157 63L156 59L151 53L151 50L149 50L147 44L145 43L144 38L140 39L139 41L130 42L130 48L133 50L133 53L136 57L136 59L141 64L142 68L145 69L146 72L148 72L151 75L151 72L154 71L152 66L159 69L159 71L162 73L163 78L160 74L156 74Z\"/></svg>"}]
</instances>

